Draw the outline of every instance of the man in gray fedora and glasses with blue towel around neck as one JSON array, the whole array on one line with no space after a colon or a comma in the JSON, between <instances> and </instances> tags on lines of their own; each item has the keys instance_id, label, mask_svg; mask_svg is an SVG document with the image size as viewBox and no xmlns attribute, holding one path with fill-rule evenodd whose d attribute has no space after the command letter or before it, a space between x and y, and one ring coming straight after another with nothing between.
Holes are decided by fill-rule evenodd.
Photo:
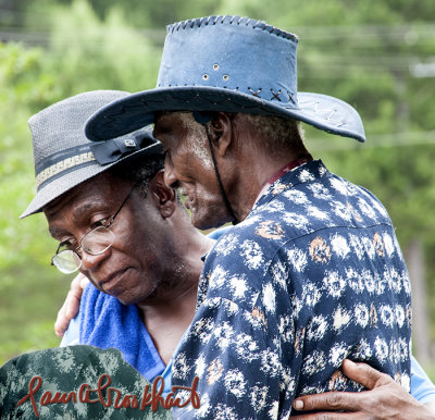
<instances>
[{"instance_id":1,"label":"man in gray fedora and glasses with blue towel around neck","mask_svg":"<svg viewBox=\"0 0 435 420\"><path fill-rule=\"evenodd\" d=\"M59 240L52 264L79 270L95 286L85 291L78 343L117 348L150 382L163 376L167 388L212 240L165 186L162 147L149 127L110 143L85 137L86 119L126 95L84 92L29 119L37 193L22 218L44 211Z\"/></svg>"}]
</instances>

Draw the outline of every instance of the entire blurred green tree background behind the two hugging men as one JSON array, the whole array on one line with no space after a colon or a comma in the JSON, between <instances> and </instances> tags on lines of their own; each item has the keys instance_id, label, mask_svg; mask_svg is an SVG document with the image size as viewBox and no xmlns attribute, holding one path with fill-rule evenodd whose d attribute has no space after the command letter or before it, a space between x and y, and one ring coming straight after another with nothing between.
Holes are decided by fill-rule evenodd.
<instances>
[{"instance_id":1,"label":"entire blurred green tree background behind the two hugging men","mask_svg":"<svg viewBox=\"0 0 435 420\"><path fill-rule=\"evenodd\" d=\"M333 172L377 195L410 270L413 353L435 379L435 13L433 0L0 0L0 365L57 346L71 276L34 197L30 115L94 89L156 86L165 25L209 14L264 20L299 36L299 90L361 113L368 141L306 127Z\"/></svg>"}]
</instances>

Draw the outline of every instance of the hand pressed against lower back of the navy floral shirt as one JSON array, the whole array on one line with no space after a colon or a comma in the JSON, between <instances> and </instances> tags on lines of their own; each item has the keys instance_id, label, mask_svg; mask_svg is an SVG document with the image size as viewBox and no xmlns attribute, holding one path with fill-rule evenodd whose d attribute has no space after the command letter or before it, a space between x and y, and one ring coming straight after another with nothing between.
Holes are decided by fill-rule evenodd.
<instances>
[{"instance_id":1,"label":"hand pressed against lower back of the navy floral shirt","mask_svg":"<svg viewBox=\"0 0 435 420\"><path fill-rule=\"evenodd\" d=\"M322 411L296 416L296 419L435 419L432 404L419 403L389 375L376 371L369 365L345 360L343 372L370 391L332 392L298 397L294 402L294 408L297 410L345 410L346 412Z\"/></svg>"}]
</instances>

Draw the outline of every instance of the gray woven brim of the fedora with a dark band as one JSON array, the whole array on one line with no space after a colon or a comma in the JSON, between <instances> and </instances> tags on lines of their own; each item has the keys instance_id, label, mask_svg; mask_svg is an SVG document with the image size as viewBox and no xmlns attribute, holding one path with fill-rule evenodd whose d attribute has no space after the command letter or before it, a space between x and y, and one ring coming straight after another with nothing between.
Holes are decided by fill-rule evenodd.
<instances>
[{"instance_id":1,"label":"gray woven brim of the fedora with a dark band","mask_svg":"<svg viewBox=\"0 0 435 420\"><path fill-rule=\"evenodd\" d=\"M113 163L100 165L95 161L92 164L88 166L78 168L74 170L73 171L74 174L72 174L72 172L65 173L64 175L60 176L57 180L51 181L46 186L40 188L36 194L35 198L28 205L27 209L20 217L20 219L24 219L27 215L42 211L42 208L47 206L49 202L55 200L57 198L67 193L72 188L76 187L77 185L84 183L85 181L88 181L108 171L110 168L116 164L120 164L128 160L133 161L134 159L140 159L148 156L161 155L161 153L163 153L163 146L161 143L156 143L144 149L137 150L132 155L121 158Z\"/></svg>"}]
</instances>

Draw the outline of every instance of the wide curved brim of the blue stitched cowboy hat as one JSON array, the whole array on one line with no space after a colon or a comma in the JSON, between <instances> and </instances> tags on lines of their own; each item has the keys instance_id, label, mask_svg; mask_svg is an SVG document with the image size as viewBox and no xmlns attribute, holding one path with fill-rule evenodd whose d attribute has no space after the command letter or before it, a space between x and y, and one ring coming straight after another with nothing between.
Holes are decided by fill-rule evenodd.
<instances>
[{"instance_id":1,"label":"wide curved brim of the blue stitched cowboy hat","mask_svg":"<svg viewBox=\"0 0 435 420\"><path fill-rule=\"evenodd\" d=\"M85 133L92 141L107 140L153 123L157 111L224 111L293 118L327 133L365 141L359 113L340 99L298 92L295 107L237 90L203 86L156 88L116 99L88 119Z\"/></svg>"}]
</instances>

